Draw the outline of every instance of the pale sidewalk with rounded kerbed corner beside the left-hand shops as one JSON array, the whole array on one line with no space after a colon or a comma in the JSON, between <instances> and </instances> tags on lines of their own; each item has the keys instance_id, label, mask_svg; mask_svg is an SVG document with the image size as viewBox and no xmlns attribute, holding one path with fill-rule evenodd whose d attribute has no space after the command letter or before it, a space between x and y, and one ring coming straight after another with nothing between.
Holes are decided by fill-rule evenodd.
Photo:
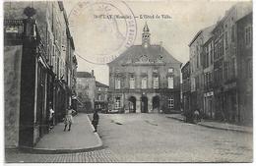
<instances>
[{"instance_id":1,"label":"pale sidewalk with rounded kerbed corner beside the left-hand shops","mask_svg":"<svg viewBox=\"0 0 256 166\"><path fill-rule=\"evenodd\" d=\"M71 131L64 132L64 124L59 123L44 135L34 148L25 148L37 153L68 153L99 149L102 141L96 133L87 114L79 113L73 117Z\"/></svg>"}]
</instances>

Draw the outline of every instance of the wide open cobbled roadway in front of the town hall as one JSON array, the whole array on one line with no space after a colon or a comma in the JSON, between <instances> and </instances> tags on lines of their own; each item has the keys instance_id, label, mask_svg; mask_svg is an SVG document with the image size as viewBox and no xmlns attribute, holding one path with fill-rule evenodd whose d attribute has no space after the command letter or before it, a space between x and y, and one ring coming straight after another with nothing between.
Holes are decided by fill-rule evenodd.
<instances>
[{"instance_id":1,"label":"wide open cobbled roadway in front of the town hall","mask_svg":"<svg viewBox=\"0 0 256 166\"><path fill-rule=\"evenodd\" d=\"M7 162L252 162L252 135L164 114L100 114L103 148L66 154L6 151Z\"/></svg>"}]
</instances>

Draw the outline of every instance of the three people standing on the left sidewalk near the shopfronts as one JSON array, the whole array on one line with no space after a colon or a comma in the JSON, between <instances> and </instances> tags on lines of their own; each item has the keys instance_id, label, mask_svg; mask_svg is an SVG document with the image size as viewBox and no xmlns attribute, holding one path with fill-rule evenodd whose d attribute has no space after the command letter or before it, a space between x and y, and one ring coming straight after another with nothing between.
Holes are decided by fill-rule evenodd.
<instances>
[{"instance_id":1,"label":"three people standing on the left sidewalk near the shopfronts","mask_svg":"<svg viewBox=\"0 0 256 166\"><path fill-rule=\"evenodd\" d=\"M67 111L66 111L66 115L65 115L65 118L64 118L64 132L67 130L67 127L68 127L68 131L71 131L71 126L72 124L74 123L73 121L73 115L76 113L76 111L71 107L69 106ZM54 111L52 109L52 106L50 105L49 106L49 130L51 130L54 126ZM95 131L96 132L96 128L97 128L97 125L98 125L98 120L99 120L99 116L97 114L97 111L94 113L94 116L93 116L93 121L92 121L92 124L95 128Z\"/></svg>"}]
</instances>

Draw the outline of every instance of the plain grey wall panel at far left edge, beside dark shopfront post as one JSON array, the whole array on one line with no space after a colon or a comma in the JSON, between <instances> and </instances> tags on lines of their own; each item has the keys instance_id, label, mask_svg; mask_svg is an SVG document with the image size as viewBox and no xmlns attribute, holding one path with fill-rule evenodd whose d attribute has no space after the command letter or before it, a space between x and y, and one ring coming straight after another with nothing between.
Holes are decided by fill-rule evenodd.
<instances>
[{"instance_id":1,"label":"plain grey wall panel at far left edge, beside dark shopfront post","mask_svg":"<svg viewBox=\"0 0 256 166\"><path fill-rule=\"evenodd\" d=\"M5 145L19 145L22 45L4 47Z\"/></svg>"}]
</instances>

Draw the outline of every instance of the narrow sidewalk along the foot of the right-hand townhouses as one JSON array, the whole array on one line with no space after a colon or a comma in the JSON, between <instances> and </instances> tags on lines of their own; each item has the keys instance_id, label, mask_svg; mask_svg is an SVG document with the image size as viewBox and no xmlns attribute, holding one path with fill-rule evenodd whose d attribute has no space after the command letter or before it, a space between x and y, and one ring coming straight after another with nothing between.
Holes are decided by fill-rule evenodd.
<instances>
[{"instance_id":1,"label":"narrow sidewalk along the foot of the right-hand townhouses","mask_svg":"<svg viewBox=\"0 0 256 166\"><path fill-rule=\"evenodd\" d=\"M166 117L179 120L179 121L184 121L184 116L180 114L169 114L169 115L166 115ZM234 131L234 132L249 133L249 134L253 133L252 127L238 126L238 125L228 124L224 122L202 120L197 125L207 127L207 128L219 129L219 130Z\"/></svg>"}]
</instances>

